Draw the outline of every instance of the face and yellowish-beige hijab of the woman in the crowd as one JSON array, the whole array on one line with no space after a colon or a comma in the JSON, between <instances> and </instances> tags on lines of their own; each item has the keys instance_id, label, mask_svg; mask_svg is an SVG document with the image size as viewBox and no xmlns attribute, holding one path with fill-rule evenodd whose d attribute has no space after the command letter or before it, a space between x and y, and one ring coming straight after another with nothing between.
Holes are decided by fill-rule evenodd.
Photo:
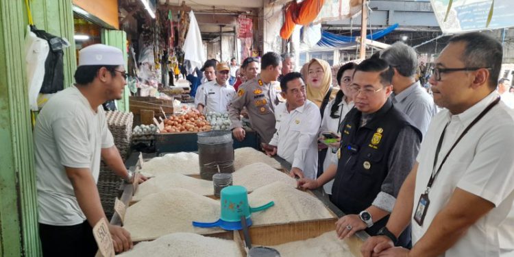
<instances>
[{"instance_id":1,"label":"face and yellowish-beige hijab of the woman in the crowd","mask_svg":"<svg viewBox=\"0 0 514 257\"><path fill-rule=\"evenodd\" d=\"M332 88L332 69L328 62L313 58L307 68L307 99L316 103L323 118L328 102L336 97L337 90Z\"/></svg>"}]
</instances>

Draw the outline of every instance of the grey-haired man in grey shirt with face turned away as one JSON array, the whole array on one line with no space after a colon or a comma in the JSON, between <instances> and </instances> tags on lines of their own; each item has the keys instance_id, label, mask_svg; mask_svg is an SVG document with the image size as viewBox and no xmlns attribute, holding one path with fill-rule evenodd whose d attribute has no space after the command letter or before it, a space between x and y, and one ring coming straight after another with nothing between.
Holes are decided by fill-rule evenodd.
<instances>
[{"instance_id":1,"label":"grey-haired man in grey shirt with face turned away","mask_svg":"<svg viewBox=\"0 0 514 257\"><path fill-rule=\"evenodd\" d=\"M428 124L437 113L434 99L416 81L417 53L403 42L395 42L380 52L380 58L393 66L393 105L407 114L421 134L428 130Z\"/></svg>"}]
</instances>

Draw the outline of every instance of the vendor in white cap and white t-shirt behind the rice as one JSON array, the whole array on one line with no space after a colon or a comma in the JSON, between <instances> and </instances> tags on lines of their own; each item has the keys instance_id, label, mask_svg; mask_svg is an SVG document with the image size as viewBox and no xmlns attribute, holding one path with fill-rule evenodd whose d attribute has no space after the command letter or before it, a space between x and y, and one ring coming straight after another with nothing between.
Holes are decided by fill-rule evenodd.
<instances>
[{"instance_id":1,"label":"vendor in white cap and white t-shirt behind the rice","mask_svg":"<svg viewBox=\"0 0 514 257\"><path fill-rule=\"evenodd\" d=\"M116 47L82 49L76 84L53 96L38 115L34 151L43 256L95 256L92 227L106 218L97 189L100 159L126 182L134 180L101 107L121 99L127 84L124 64ZM116 252L132 248L129 232L117 225L109 230Z\"/></svg>"}]
</instances>

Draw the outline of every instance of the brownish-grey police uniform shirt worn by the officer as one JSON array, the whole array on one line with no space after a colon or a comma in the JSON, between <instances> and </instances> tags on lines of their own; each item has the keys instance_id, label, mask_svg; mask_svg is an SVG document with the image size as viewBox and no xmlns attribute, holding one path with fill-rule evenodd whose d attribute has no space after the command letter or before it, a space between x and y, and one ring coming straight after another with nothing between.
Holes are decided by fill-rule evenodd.
<instances>
[{"instance_id":1,"label":"brownish-grey police uniform shirt worn by the officer","mask_svg":"<svg viewBox=\"0 0 514 257\"><path fill-rule=\"evenodd\" d=\"M230 129L243 127L239 115L243 107L246 107L252 128L260 136L261 142L269 143L276 132L275 108L280 101L284 99L280 95L278 82L265 84L258 75L241 84L228 108L230 121L232 121Z\"/></svg>"}]
</instances>

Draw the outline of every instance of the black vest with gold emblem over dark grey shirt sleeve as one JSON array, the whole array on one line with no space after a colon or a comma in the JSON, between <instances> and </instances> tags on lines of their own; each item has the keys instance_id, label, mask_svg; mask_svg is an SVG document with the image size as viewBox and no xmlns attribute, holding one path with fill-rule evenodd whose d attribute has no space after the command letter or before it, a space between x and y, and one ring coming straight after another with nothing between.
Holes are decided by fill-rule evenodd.
<instances>
[{"instance_id":1,"label":"black vest with gold emblem over dark grey shirt sleeve","mask_svg":"<svg viewBox=\"0 0 514 257\"><path fill-rule=\"evenodd\" d=\"M341 124L341 148L337 153L337 172L332 186L331 201L346 214L358 214L365 210L376 200L379 193L384 193L384 180L391 173L395 183L387 197L395 201L395 193L400 190L403 180L411 171L415 159L415 153L419 150L421 132L412 124L411 120L393 107L391 99L387 99L384 106L374 114L363 126L360 126L362 112L353 108L348 112ZM399 140L400 132L408 132L413 143L404 144L401 151L395 144ZM400 142L400 145L402 142ZM391 153L397 151L393 162L402 162L405 158L410 165L397 165L399 169L391 169ZM410 152L411 156L400 156L402 151ZM394 164L393 164L394 165ZM391 169L391 171L389 171ZM408 170L407 170L408 169ZM400 175L401 174L401 175ZM394 177L397 176L397 177ZM375 205L375 204L374 204ZM391 204L389 204L391 205ZM392 206L389 211L392 210ZM375 235L380 228L386 225L389 216L374 223L366 232ZM410 230L400 237L403 246L410 241ZM402 239L404 239L402 241Z\"/></svg>"}]
</instances>

